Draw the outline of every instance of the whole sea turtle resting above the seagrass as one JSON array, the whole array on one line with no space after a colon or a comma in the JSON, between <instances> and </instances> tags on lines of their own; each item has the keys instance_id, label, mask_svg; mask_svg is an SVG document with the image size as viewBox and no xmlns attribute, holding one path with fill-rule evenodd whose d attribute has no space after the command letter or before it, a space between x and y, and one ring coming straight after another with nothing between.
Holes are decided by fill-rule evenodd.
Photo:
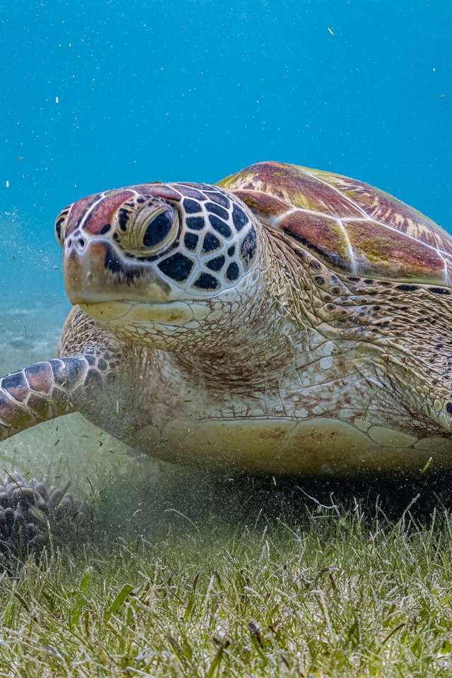
<instances>
[{"instance_id":1,"label":"whole sea turtle resting above the seagrass","mask_svg":"<svg viewBox=\"0 0 452 678\"><path fill-rule=\"evenodd\" d=\"M163 460L270 473L452 460L452 237L369 184L261 162L64 208L57 357L0 438L78 410Z\"/></svg>"}]
</instances>

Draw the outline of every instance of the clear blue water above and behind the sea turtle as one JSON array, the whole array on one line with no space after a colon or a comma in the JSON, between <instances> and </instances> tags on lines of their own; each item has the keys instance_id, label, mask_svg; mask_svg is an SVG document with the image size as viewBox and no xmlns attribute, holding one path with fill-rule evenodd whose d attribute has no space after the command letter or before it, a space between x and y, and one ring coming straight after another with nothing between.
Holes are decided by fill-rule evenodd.
<instances>
[{"instance_id":1,"label":"clear blue water above and behind the sea turtle","mask_svg":"<svg viewBox=\"0 0 452 678\"><path fill-rule=\"evenodd\" d=\"M258 160L364 179L452 230L450 0L18 0L0 30L8 302L63 299L66 203Z\"/></svg>"}]
</instances>

